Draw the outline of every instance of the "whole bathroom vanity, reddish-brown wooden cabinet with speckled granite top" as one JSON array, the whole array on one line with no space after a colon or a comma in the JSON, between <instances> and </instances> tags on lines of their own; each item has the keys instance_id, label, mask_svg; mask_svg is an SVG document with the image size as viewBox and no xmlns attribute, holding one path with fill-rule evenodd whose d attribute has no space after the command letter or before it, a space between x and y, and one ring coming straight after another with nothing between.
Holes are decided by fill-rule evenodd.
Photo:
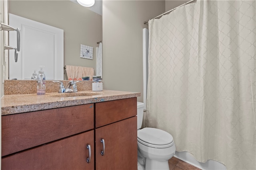
<instances>
[{"instance_id":1,"label":"whole bathroom vanity, reddish-brown wooden cabinet with speckled granite top","mask_svg":"<svg viewBox=\"0 0 256 170\"><path fill-rule=\"evenodd\" d=\"M137 96L4 96L2 170L137 169Z\"/></svg>"}]
</instances>

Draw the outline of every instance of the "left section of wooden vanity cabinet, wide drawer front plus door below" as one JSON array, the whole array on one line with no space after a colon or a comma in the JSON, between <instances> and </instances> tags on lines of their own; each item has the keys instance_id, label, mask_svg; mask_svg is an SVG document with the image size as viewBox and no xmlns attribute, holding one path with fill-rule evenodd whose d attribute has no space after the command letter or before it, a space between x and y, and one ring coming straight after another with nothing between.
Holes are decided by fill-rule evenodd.
<instances>
[{"instance_id":1,"label":"left section of wooden vanity cabinet, wide drawer front plus door below","mask_svg":"<svg viewBox=\"0 0 256 170\"><path fill-rule=\"evenodd\" d=\"M1 168L93 170L93 129L94 104L2 116Z\"/></svg>"}]
</instances>

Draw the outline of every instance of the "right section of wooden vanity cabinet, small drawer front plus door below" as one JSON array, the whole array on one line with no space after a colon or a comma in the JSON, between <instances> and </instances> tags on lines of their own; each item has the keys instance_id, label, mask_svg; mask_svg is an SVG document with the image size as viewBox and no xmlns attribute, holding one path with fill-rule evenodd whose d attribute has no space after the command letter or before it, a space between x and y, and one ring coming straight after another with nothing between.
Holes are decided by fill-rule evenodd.
<instances>
[{"instance_id":1,"label":"right section of wooden vanity cabinet, small drawer front plus door below","mask_svg":"<svg viewBox=\"0 0 256 170\"><path fill-rule=\"evenodd\" d=\"M95 104L96 170L136 170L137 99ZM104 139L105 152L101 154Z\"/></svg>"}]
</instances>

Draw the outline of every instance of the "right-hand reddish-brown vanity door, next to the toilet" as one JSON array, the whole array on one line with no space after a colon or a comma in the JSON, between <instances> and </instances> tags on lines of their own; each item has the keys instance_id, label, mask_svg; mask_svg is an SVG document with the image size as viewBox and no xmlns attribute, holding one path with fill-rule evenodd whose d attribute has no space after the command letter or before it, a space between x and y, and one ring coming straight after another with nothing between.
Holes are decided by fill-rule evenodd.
<instances>
[{"instance_id":1,"label":"right-hand reddish-brown vanity door, next to the toilet","mask_svg":"<svg viewBox=\"0 0 256 170\"><path fill-rule=\"evenodd\" d=\"M101 139L105 142L103 156ZM136 170L138 168L136 116L97 128L95 140L96 170Z\"/></svg>"}]
</instances>

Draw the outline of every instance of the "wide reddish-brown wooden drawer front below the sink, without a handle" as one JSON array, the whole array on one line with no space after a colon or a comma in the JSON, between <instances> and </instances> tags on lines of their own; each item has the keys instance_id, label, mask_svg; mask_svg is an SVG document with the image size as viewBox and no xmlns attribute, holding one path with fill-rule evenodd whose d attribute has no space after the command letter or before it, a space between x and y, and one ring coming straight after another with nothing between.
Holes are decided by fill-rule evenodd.
<instances>
[{"instance_id":1,"label":"wide reddish-brown wooden drawer front below the sink, without a handle","mask_svg":"<svg viewBox=\"0 0 256 170\"><path fill-rule=\"evenodd\" d=\"M2 116L2 156L94 128L94 105Z\"/></svg>"}]
</instances>

